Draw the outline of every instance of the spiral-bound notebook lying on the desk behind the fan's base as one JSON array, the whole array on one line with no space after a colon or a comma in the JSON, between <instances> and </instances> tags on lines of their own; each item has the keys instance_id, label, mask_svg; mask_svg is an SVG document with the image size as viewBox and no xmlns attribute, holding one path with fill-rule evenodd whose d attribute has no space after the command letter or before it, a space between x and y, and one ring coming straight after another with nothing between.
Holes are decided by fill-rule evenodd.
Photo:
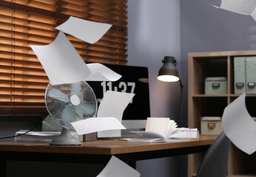
<instances>
[{"instance_id":1,"label":"spiral-bound notebook lying on the desk behind the fan's base","mask_svg":"<svg viewBox=\"0 0 256 177\"><path fill-rule=\"evenodd\" d=\"M55 136L61 134L57 131L17 131L15 142L27 142L27 143L50 143ZM25 134L24 134L25 133ZM78 133L70 132L75 138L78 138Z\"/></svg>"}]
</instances>

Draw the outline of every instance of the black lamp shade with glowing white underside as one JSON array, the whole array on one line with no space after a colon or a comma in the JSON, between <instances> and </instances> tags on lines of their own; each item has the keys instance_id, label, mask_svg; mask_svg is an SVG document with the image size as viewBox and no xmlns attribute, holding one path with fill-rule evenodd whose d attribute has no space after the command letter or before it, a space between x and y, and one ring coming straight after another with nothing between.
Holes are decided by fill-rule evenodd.
<instances>
[{"instance_id":1,"label":"black lamp shade with glowing white underside","mask_svg":"<svg viewBox=\"0 0 256 177\"><path fill-rule=\"evenodd\" d=\"M162 60L164 65L159 69L158 80L164 82L175 82L179 80L178 69L176 68L176 60L172 56L164 57Z\"/></svg>"}]
</instances>

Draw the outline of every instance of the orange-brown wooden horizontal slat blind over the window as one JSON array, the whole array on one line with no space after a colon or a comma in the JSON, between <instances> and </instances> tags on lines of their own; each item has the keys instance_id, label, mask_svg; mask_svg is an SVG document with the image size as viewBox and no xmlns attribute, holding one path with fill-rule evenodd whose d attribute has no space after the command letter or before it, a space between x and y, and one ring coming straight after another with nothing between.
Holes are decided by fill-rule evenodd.
<instances>
[{"instance_id":1,"label":"orange-brown wooden horizontal slat blind over the window","mask_svg":"<svg viewBox=\"0 0 256 177\"><path fill-rule=\"evenodd\" d=\"M73 15L112 24L95 44L67 35L85 62L127 63L127 0L0 1L0 114L44 114L48 77L30 45L53 42Z\"/></svg>"}]
</instances>

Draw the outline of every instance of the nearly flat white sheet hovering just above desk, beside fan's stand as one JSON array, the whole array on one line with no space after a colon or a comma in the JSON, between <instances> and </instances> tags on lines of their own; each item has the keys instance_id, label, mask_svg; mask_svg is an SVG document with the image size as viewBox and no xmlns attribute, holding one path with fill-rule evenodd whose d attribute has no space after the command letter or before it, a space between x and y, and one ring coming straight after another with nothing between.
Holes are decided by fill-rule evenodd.
<instances>
[{"instance_id":1,"label":"nearly flat white sheet hovering just above desk, beside fan's stand","mask_svg":"<svg viewBox=\"0 0 256 177\"><path fill-rule=\"evenodd\" d=\"M91 117L72 122L71 125L73 125L78 135L97 131L126 129L115 117Z\"/></svg>"}]
</instances>

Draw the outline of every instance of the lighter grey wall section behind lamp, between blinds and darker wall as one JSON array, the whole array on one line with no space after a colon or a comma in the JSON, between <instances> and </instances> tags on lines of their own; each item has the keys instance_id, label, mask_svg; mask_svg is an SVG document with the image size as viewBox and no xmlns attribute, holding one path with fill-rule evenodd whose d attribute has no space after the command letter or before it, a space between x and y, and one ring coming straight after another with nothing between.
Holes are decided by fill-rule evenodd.
<instances>
[{"instance_id":1,"label":"lighter grey wall section behind lamp, between blinds and darker wall","mask_svg":"<svg viewBox=\"0 0 256 177\"><path fill-rule=\"evenodd\" d=\"M181 60L179 0L128 0L128 65L149 69L151 117L178 119L179 83L157 80L161 60ZM181 176L181 156L137 162L141 177Z\"/></svg>"}]
</instances>

